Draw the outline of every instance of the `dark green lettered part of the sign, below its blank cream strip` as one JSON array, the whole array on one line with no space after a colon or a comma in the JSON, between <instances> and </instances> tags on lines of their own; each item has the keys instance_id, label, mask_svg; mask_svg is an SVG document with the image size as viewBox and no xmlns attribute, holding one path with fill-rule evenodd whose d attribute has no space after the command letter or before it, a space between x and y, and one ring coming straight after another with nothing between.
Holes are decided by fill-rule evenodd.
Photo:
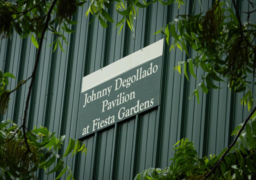
<instances>
[{"instance_id":1,"label":"dark green lettered part of the sign, below its blank cream strip","mask_svg":"<svg viewBox=\"0 0 256 180\"><path fill-rule=\"evenodd\" d=\"M162 56L81 93L77 138L159 105Z\"/></svg>"}]
</instances>

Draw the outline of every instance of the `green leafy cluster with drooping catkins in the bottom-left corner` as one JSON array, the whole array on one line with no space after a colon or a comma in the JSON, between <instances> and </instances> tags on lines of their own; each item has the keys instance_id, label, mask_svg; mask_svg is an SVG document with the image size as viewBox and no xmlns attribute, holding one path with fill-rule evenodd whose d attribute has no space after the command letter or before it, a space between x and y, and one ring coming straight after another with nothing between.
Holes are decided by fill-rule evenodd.
<instances>
[{"instance_id":1,"label":"green leafy cluster with drooping catkins in the bottom-left corner","mask_svg":"<svg viewBox=\"0 0 256 180\"><path fill-rule=\"evenodd\" d=\"M23 133L17 124L11 120L5 120L0 124L0 179L35 179L34 172L38 168L46 170L51 165L54 168L46 174L56 171L62 172L58 175L60 178L66 170L68 170L67 179L72 178L72 171L63 161L63 157L72 155L81 151L86 152L85 145L81 141L68 139L69 145L63 157L60 157L58 149L62 147L64 136L56 136L55 133L49 132L46 128L35 128L26 132L28 138L29 149L27 149Z\"/></svg>"}]
</instances>

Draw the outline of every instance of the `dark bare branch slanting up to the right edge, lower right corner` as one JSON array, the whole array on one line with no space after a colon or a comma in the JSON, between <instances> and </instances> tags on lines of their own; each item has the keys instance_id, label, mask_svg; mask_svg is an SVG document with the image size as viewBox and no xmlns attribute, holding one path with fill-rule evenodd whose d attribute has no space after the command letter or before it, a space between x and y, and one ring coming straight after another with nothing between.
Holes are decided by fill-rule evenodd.
<instances>
[{"instance_id":1,"label":"dark bare branch slanting up to the right edge, lower right corner","mask_svg":"<svg viewBox=\"0 0 256 180\"><path fill-rule=\"evenodd\" d=\"M224 159L224 157L227 155L227 153L229 153L230 149L235 145L235 143L237 142L238 137L240 136L240 134L242 133L243 129L245 128L246 124L248 123L248 121L250 120L251 116L254 114L254 112L256 111L256 106L254 107L254 109L251 111L251 113L249 114L249 116L247 117L247 119L245 120L245 122L243 123L241 129L239 130L239 132L237 133L237 136L235 137L234 141L229 145L229 147L227 148L227 150L222 154L222 156L219 158L217 164L215 164L215 166L211 169L211 171L206 174L206 176L203 178L204 180L209 178L211 176L211 174L213 174L213 172L219 168L219 166L221 165L221 161Z\"/></svg>"}]
</instances>

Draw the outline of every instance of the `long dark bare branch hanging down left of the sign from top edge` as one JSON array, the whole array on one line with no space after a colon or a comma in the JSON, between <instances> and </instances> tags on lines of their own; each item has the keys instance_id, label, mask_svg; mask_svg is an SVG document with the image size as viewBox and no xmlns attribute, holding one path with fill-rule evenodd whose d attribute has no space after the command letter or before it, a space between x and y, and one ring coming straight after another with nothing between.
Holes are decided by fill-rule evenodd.
<instances>
[{"instance_id":1,"label":"long dark bare branch hanging down left of the sign from top edge","mask_svg":"<svg viewBox=\"0 0 256 180\"><path fill-rule=\"evenodd\" d=\"M46 18L46 21L45 21L45 26L42 30L42 35L41 35L41 38L40 38L40 42L39 42L39 46L38 46L38 50L37 50L37 55L35 57L35 65L34 65L34 69L33 69L33 72L32 72L32 75L31 75L31 82L30 82L30 85L29 85L29 92L27 94L27 100L26 100L26 106L25 106L25 110L24 110L24 117L23 117L23 123L21 125L22 127L22 131L23 131L23 136L24 136L24 139L25 139L25 143L27 145L27 152L30 151L29 149L29 144L27 143L27 137L26 137L26 118L27 118L27 109L29 107L29 99L30 99L30 95L31 95L31 90L32 90L32 86L33 86L33 83L35 81L35 74L36 74L36 70L37 70L37 66L38 66L38 62L39 62L39 57L40 57L40 53L41 53L41 49L42 49L42 44L43 44L43 37L45 35L45 32L46 32L46 29L48 27L48 23L50 22L50 19L51 19L51 11L53 10L53 7L55 5L57 0L54 0L50 6L50 9L49 11L47 12L47 18Z\"/></svg>"}]
</instances>

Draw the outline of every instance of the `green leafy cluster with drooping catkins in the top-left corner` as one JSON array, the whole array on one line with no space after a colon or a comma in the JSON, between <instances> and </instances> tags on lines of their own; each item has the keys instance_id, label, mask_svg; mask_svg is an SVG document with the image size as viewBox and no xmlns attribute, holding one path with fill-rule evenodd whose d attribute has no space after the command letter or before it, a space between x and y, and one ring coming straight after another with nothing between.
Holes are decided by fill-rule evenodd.
<instances>
[{"instance_id":1,"label":"green leafy cluster with drooping catkins in the top-left corner","mask_svg":"<svg viewBox=\"0 0 256 180\"><path fill-rule=\"evenodd\" d=\"M61 29L67 33L74 32L68 25L76 24L71 20L71 17L76 13L77 7L82 6L86 1L77 0L58 0L55 2L53 11L56 14L52 16L47 31L51 31L57 35L55 49L57 45L63 50L59 41L59 37L67 43L66 37ZM16 3L0 1L0 34L2 38L7 38L11 35L13 28L23 38L31 35L31 41L35 47L39 47L37 38L41 38L41 31L45 26L47 12L52 5L49 0L19 0ZM53 45L51 44L51 45ZM55 50L54 49L54 50Z\"/></svg>"}]
</instances>

